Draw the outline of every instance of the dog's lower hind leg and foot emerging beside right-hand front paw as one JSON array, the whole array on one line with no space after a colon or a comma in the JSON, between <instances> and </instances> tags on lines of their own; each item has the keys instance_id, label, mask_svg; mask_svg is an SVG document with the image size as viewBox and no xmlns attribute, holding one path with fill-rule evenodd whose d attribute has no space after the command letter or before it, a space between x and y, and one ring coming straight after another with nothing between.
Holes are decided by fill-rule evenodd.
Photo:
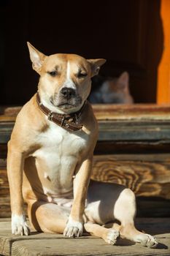
<instances>
[{"instance_id":1,"label":"dog's lower hind leg and foot emerging beside right-hand front paw","mask_svg":"<svg viewBox=\"0 0 170 256\"><path fill-rule=\"evenodd\" d=\"M106 241L108 244L116 244L117 238L120 236L120 233L117 230L101 227L100 225L94 224L92 222L85 223L84 227L85 231L93 236L103 238L104 241Z\"/></svg>"}]
</instances>

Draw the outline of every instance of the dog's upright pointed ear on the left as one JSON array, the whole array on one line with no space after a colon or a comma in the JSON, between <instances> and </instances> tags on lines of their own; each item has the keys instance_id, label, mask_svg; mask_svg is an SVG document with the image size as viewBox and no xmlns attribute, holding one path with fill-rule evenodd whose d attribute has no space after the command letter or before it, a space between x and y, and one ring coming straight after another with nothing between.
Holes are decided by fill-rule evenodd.
<instances>
[{"instance_id":1,"label":"dog's upright pointed ear on the left","mask_svg":"<svg viewBox=\"0 0 170 256\"><path fill-rule=\"evenodd\" d=\"M27 42L27 45L29 50L29 56L32 61L32 67L40 75L42 63L44 62L46 56L45 54L40 53L39 50L36 50L36 48L34 48L34 46L31 45L30 42Z\"/></svg>"}]
</instances>

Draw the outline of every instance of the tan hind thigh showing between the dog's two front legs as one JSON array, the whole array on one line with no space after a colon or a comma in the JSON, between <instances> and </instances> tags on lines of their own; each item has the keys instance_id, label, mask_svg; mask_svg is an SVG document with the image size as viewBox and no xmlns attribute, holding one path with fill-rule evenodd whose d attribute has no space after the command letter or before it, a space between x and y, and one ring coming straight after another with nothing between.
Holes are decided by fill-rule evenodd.
<instances>
[{"instance_id":1,"label":"tan hind thigh showing between the dog's two front legs","mask_svg":"<svg viewBox=\"0 0 170 256\"><path fill-rule=\"evenodd\" d=\"M63 233L69 214L70 208L55 203L35 200L28 202L29 221L39 232Z\"/></svg>"}]
</instances>

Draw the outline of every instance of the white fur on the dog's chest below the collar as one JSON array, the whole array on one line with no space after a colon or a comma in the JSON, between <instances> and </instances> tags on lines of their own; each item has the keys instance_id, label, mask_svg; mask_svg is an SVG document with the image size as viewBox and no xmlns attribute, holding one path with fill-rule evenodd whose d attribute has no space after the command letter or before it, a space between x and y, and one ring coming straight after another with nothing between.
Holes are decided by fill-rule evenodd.
<instances>
[{"instance_id":1,"label":"white fur on the dog's chest below the collar","mask_svg":"<svg viewBox=\"0 0 170 256\"><path fill-rule=\"evenodd\" d=\"M64 195L71 191L72 176L82 154L88 149L89 136L83 131L67 132L50 122L47 131L39 134L36 140L42 146L32 157L36 158L39 175L44 177L42 187L45 194L57 195L59 192Z\"/></svg>"}]
</instances>

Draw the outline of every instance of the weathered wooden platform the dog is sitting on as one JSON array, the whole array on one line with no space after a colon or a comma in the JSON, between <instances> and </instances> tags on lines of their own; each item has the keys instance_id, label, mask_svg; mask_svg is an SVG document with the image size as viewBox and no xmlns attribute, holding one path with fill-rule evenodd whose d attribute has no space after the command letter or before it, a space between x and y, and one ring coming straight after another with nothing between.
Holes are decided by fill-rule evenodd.
<instances>
[{"instance_id":1,"label":"weathered wooden platform the dog is sitting on","mask_svg":"<svg viewBox=\"0 0 170 256\"><path fill-rule=\"evenodd\" d=\"M154 234L158 249L149 249L125 239L117 241L117 246L106 244L95 236L64 238L58 234L35 233L31 236L12 236L10 222L0 222L0 254L17 256L40 255L169 255L170 254L170 220L137 219L136 227L146 233Z\"/></svg>"}]
</instances>

